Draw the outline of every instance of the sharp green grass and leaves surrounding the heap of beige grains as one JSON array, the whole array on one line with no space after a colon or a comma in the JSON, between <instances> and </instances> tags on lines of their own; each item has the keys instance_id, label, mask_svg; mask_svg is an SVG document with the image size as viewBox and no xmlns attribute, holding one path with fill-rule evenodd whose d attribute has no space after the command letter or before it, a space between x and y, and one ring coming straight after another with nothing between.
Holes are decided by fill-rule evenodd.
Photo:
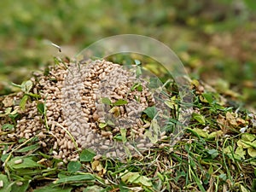
<instances>
[{"instance_id":1,"label":"sharp green grass and leaves surrounding the heap of beige grains","mask_svg":"<svg viewBox=\"0 0 256 192\"><path fill-rule=\"evenodd\" d=\"M44 148L38 144L42 141L39 135L15 141L6 137L14 131L9 126L12 121L2 125L0 191L256 190L253 113L230 106L218 92L207 90L195 79L191 88L194 113L189 125L183 127L183 137L173 146L168 145L167 137L143 152L143 156L125 160L104 156L95 160L96 154L84 149L79 152L78 161L65 164L51 156L53 146ZM180 104L178 99L174 101L177 106ZM38 107L44 115L45 110ZM12 117L11 113L1 119ZM17 119L13 118L13 123ZM175 128L175 121L171 120Z\"/></svg>"}]
</instances>

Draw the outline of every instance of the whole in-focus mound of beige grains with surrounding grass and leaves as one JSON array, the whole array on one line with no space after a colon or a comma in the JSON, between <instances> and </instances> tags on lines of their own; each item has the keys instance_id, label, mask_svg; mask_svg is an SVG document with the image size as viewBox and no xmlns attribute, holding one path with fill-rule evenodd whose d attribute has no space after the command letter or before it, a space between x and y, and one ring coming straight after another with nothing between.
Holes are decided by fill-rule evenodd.
<instances>
[{"instance_id":1,"label":"whole in-focus mound of beige grains with surrounding grass and leaves","mask_svg":"<svg viewBox=\"0 0 256 192\"><path fill-rule=\"evenodd\" d=\"M0 192L256 189L254 113L190 80L193 112L172 145L183 125L174 114L183 112L170 87L160 97L166 116L147 82L138 80L139 70L128 73L109 61L85 67L55 61L15 84L19 92L0 97ZM156 120L161 115L166 126ZM160 130L159 137L150 129ZM145 141L132 145L137 139ZM113 143L120 143L115 151Z\"/></svg>"}]
</instances>

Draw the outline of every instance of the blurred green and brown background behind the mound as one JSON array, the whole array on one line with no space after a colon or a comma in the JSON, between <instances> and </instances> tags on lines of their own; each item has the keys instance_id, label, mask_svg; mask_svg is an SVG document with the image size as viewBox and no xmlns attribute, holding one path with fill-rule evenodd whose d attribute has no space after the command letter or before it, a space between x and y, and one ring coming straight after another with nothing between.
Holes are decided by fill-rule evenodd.
<instances>
[{"instance_id":1,"label":"blurred green and brown background behind the mound","mask_svg":"<svg viewBox=\"0 0 256 192\"><path fill-rule=\"evenodd\" d=\"M101 38L135 33L168 45L193 79L256 107L254 0L2 0L0 8L1 95L60 55L45 39L73 57Z\"/></svg>"}]
</instances>

